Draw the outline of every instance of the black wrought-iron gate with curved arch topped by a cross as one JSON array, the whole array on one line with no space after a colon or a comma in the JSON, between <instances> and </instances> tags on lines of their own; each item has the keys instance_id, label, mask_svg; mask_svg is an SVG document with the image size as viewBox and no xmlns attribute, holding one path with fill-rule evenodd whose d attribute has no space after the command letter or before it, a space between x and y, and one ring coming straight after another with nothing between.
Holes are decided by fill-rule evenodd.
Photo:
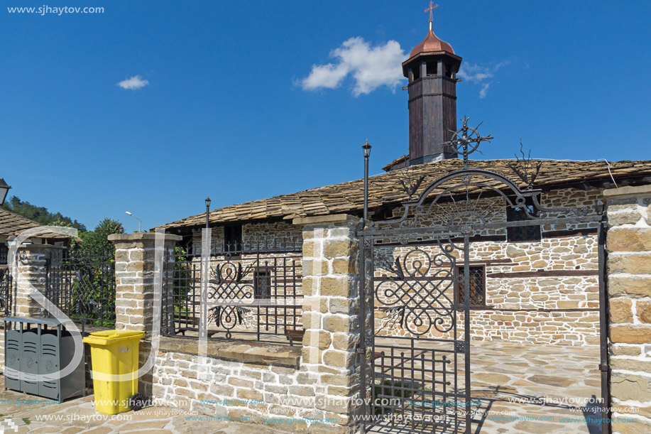
<instances>
[{"instance_id":1,"label":"black wrought-iron gate with curved arch topped by a cross","mask_svg":"<svg viewBox=\"0 0 651 434\"><path fill-rule=\"evenodd\" d=\"M366 356L360 359L366 391L363 433L474 432L469 345L474 236L504 234L514 227L602 224L601 202L594 207L543 207L542 190L530 182L522 189L500 173L469 168L469 154L490 139L464 118L463 127L445 143L462 156L463 168L432 181L414 200L411 195L422 178L415 185L403 181L410 200L401 204L403 215L393 219L366 217L365 173L365 219L357 232L364 289L359 351ZM504 221L505 209L524 217ZM601 239L600 232L603 244Z\"/></svg>"}]
</instances>

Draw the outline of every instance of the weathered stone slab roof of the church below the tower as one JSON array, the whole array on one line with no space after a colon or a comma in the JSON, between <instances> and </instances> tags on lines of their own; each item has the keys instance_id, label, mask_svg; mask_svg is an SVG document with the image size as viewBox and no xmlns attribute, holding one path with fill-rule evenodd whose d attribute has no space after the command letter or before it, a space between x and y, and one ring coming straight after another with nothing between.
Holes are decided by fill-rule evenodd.
<instances>
[{"instance_id":1,"label":"weathered stone slab roof of the church below the tower","mask_svg":"<svg viewBox=\"0 0 651 434\"><path fill-rule=\"evenodd\" d=\"M513 159L474 160L470 161L469 166L470 168L493 170L513 181L519 181L518 176L509 167L514 163ZM535 164L537 160L532 160L531 163ZM651 161L613 161L609 163L610 173L605 161L545 160L542 161L542 167L534 187L549 188L595 181L611 182L611 174L612 178L622 182L633 178L651 177ZM416 195L435 179L462 167L463 161L460 159L411 166L412 176L418 178L425 175ZM368 207L372 209L382 205L398 205L407 200L408 196L400 183L401 177L403 177L401 170L394 170L369 178ZM520 187L525 187L524 183L517 183ZM648 180L648 183L651 183L651 179ZM263 219L294 219L313 215L356 213L362 209L363 180L354 180L212 210L209 222L224 224ZM160 227L175 229L202 227L205 221L206 215L203 213L180 219L177 222L163 224Z\"/></svg>"}]
</instances>

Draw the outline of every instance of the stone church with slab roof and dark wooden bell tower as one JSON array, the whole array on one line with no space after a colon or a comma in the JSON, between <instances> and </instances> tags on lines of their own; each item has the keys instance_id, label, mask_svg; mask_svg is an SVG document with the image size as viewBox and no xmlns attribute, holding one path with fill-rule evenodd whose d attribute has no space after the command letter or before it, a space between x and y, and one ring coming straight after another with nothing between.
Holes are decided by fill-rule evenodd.
<instances>
[{"instance_id":1,"label":"stone church with slab roof and dark wooden bell tower","mask_svg":"<svg viewBox=\"0 0 651 434\"><path fill-rule=\"evenodd\" d=\"M454 131L459 126L456 85L461 80L456 74L461 62L462 58L452 45L434 34L430 21L425 39L411 50L402 65L408 79L409 153L388 163L383 168L386 173L368 179L370 222L400 217L405 212L404 202L422 194L433 180L464 167L459 149L452 145ZM403 145L396 143L395 153L400 155L402 150ZM510 227L500 227L500 222L524 221L535 216L538 212L535 205L541 209L593 208L603 199L604 190L651 183L651 161L607 163L524 158L469 161L468 164L469 168L491 170L510 177L523 190L537 191L537 195L527 197L517 206L496 200L496 195L470 197L459 192L451 194L446 201L445 206L466 207L466 210L467 203L459 204L472 202L471 206L483 221L495 223L492 229L471 235L469 267L459 269L459 273L468 271L471 275L471 338L598 345L598 222L564 223L559 220L557 224ZM509 194L507 190L503 188L505 196ZM302 231L292 223L295 219L335 214L362 217L363 206L363 180L352 180L223 207L209 212L208 219L205 214L195 215L165 224L163 228L182 235L183 245L199 254L201 230L207 222L212 228L214 251L246 256L252 246L261 243L274 246L280 239L292 239L294 245L300 246ZM430 206L430 215L421 217L421 222L444 221L445 206ZM427 256L432 249L423 246L422 255ZM407 261L406 254L399 243L389 242L374 249L377 265L372 274L376 291L381 291L383 284L395 286L395 279L392 281L390 276L395 272L393 264L396 261L405 261L408 268L414 264L422 266L426 260L421 255L420 259L414 257ZM457 258L462 254L455 253ZM256 273L258 277L264 274ZM271 274L263 277L269 281L276 278ZM275 288L275 284L270 286ZM295 295L300 295L300 291L300 287L296 288ZM450 284L444 292L449 300L456 297L457 302L464 302L463 284ZM266 296L273 297L273 294ZM390 298L390 294L386 296ZM382 308L379 295L377 304L375 327L378 333L400 336L421 327L409 318L395 315L396 310ZM292 323L292 326L297 325L300 325L300 313ZM427 330L427 336L434 338L446 333L435 327Z\"/></svg>"}]
</instances>

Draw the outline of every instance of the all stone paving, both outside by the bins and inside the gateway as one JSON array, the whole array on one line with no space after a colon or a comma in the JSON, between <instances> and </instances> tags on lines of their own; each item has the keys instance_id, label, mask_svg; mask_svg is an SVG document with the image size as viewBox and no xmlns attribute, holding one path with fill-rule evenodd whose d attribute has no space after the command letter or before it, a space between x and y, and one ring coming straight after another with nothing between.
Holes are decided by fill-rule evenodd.
<instances>
[{"instance_id":1,"label":"all stone paving, both outside by the bins and inside the gateway","mask_svg":"<svg viewBox=\"0 0 651 434\"><path fill-rule=\"evenodd\" d=\"M560 346L525 346L508 342L473 342L473 398L481 401L481 411L493 412L474 416L474 433L589 433L600 432L598 425L586 424L586 416L600 415L581 410L571 403L600 394L598 349ZM460 374L463 378L463 372ZM4 379L2 380L4 382ZM2 384L0 384L2 386ZM541 398L546 398L544 403ZM62 404L16 405L9 400L33 399L13 391L0 391L0 424L8 421L17 430L5 433L279 433L261 425L219 421L188 421L185 414L172 408L153 407L139 412L123 413L121 418L107 421L94 412L92 396ZM550 403L549 401L557 402ZM562 402L565 400L565 402ZM510 415L496 412L509 413ZM39 421L41 416L49 421ZM93 416L97 418L88 420ZM504 416L507 416L504 418ZM510 417L508 417L510 416ZM515 416L515 417L514 417ZM86 418L85 420L83 418ZM128 420L125 420L128 417ZM562 422L560 418L582 421ZM110 416L109 416L110 418ZM538 420L525 419L538 418ZM546 418L547 421L541 421ZM57 420L58 419L58 420ZM0 425L0 432L1 428ZM387 431L389 432L389 431Z\"/></svg>"}]
</instances>

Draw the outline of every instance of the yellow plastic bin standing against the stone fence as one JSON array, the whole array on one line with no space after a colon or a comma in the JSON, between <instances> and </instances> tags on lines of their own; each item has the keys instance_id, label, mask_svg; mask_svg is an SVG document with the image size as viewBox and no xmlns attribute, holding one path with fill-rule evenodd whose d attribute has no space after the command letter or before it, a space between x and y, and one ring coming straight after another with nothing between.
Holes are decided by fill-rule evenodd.
<instances>
[{"instance_id":1,"label":"yellow plastic bin standing against the stone fence","mask_svg":"<svg viewBox=\"0 0 651 434\"><path fill-rule=\"evenodd\" d=\"M95 411L118 414L129 411L128 399L138 393L138 347L145 332L134 330L103 330L84 337L90 345ZM131 374L126 381L102 379L101 374ZM97 375L96 375L97 377Z\"/></svg>"}]
</instances>

